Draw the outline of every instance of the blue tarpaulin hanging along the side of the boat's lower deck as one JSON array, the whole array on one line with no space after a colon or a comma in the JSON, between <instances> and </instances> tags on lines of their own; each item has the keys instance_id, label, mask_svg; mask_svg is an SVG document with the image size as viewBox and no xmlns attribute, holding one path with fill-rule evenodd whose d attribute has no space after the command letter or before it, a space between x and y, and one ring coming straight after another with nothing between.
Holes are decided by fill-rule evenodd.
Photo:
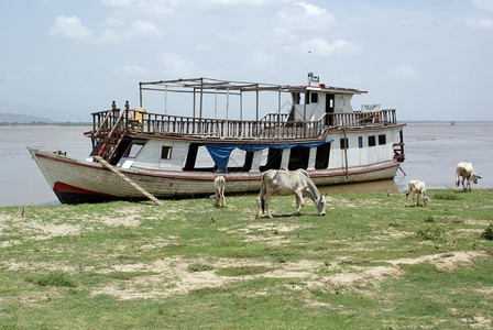
<instances>
[{"instance_id":1,"label":"blue tarpaulin hanging along the side of the boat's lower deck","mask_svg":"<svg viewBox=\"0 0 493 330\"><path fill-rule=\"evenodd\" d=\"M264 150L267 147L273 148L291 148L295 146L313 147L319 146L325 143L332 142L331 139L317 141L317 142L303 142L303 143L272 143L272 144L255 144L255 143L206 143L207 151L212 157L216 166L222 172L227 172L229 156L234 148L240 148L245 152L254 152Z\"/></svg>"}]
</instances>

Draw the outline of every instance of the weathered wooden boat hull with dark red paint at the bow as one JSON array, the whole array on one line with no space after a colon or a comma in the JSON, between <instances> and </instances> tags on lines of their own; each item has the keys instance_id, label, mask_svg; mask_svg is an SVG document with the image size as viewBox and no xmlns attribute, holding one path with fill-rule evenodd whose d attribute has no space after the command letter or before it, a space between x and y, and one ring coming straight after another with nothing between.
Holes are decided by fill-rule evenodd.
<instances>
[{"instance_id":1,"label":"weathered wooden boat hull with dark red paint at the bow","mask_svg":"<svg viewBox=\"0 0 493 330\"><path fill-rule=\"evenodd\" d=\"M29 148L51 188L63 204L101 202L145 198L134 187L99 163L70 158L53 152ZM370 166L308 170L318 186L391 179L396 161ZM120 169L128 178L157 198L187 198L213 193L213 179L223 175L227 194L256 193L261 172L212 173L185 170Z\"/></svg>"}]
</instances>

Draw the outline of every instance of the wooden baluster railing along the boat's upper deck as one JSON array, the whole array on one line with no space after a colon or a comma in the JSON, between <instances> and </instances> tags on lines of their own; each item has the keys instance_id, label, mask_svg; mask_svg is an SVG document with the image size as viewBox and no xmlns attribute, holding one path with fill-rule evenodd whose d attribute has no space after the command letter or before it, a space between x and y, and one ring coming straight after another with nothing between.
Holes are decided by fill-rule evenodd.
<instances>
[{"instance_id":1,"label":"wooden baluster railing along the boat's upper deck","mask_svg":"<svg viewBox=\"0 0 493 330\"><path fill-rule=\"evenodd\" d=\"M373 112L325 113L316 121L287 121L286 113L269 113L260 121L191 118L117 109L95 112L92 139L117 131L228 139L316 139L327 129L395 124L394 109Z\"/></svg>"}]
</instances>

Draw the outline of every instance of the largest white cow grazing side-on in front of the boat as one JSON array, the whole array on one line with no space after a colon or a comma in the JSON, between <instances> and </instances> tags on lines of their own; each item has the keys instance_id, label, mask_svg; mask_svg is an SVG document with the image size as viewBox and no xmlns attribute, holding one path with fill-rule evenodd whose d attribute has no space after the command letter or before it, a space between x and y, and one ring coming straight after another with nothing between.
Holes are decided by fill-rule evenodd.
<instances>
[{"instance_id":1,"label":"largest white cow grazing side-on in front of the boat","mask_svg":"<svg viewBox=\"0 0 493 330\"><path fill-rule=\"evenodd\" d=\"M296 195L297 209L295 215L299 215L302 211L305 204L304 196L311 198L320 216L326 215L326 198L320 195L305 169L269 169L262 174L262 187L256 198L255 218L259 218L261 208L262 213L266 211L269 218L272 218L269 202L273 195L288 196L293 194Z\"/></svg>"}]
</instances>

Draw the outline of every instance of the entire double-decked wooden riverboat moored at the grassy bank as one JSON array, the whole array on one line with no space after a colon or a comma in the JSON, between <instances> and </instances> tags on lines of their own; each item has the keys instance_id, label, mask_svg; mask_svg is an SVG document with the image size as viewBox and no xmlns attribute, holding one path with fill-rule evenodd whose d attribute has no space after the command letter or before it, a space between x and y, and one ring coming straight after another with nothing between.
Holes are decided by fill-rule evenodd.
<instances>
[{"instance_id":1,"label":"entire double-decked wooden riverboat moored at the grassy bank","mask_svg":"<svg viewBox=\"0 0 493 330\"><path fill-rule=\"evenodd\" d=\"M304 168L317 186L392 179L405 160L395 109L352 109L363 90L201 77L140 82L139 92L139 107L113 101L91 113L88 158L29 147L62 204L141 199L143 191L207 196L219 175L227 194L259 191L271 168Z\"/></svg>"}]
</instances>

